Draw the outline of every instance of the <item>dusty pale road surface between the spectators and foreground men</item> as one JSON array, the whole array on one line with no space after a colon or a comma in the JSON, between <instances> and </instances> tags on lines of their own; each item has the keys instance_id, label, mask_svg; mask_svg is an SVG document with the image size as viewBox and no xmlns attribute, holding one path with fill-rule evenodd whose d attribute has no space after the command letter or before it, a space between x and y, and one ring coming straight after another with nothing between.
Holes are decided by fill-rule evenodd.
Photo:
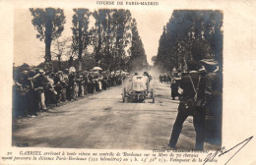
<instances>
[{"instance_id":1,"label":"dusty pale road surface between the spectators and foreground men","mask_svg":"<svg viewBox=\"0 0 256 165\"><path fill-rule=\"evenodd\" d=\"M111 87L78 101L50 109L36 118L14 122L13 145L96 148L169 149L177 114L169 84L156 83L156 103L122 102L122 87ZM177 147L194 149L192 118L184 123ZM219 145L205 144L205 149Z\"/></svg>"}]
</instances>

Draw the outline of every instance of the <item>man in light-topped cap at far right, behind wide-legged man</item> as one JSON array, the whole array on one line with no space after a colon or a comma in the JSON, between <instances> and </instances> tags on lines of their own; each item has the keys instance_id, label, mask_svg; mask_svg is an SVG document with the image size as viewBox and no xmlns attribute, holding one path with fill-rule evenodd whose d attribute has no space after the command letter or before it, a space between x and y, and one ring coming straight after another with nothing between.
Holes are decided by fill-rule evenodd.
<instances>
[{"instance_id":1,"label":"man in light-topped cap at far right, behind wide-legged man","mask_svg":"<svg viewBox=\"0 0 256 165\"><path fill-rule=\"evenodd\" d=\"M214 59L201 60L206 70L205 103L208 120L206 121L206 137L216 142L222 139L222 73L218 70L218 62Z\"/></svg>"}]
</instances>

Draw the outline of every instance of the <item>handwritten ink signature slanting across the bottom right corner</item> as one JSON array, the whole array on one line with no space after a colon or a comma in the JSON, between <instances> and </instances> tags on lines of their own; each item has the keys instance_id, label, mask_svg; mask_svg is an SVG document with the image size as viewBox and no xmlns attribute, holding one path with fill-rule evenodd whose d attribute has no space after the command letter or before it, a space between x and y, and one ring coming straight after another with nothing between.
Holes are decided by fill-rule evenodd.
<instances>
[{"instance_id":1,"label":"handwritten ink signature slanting across the bottom right corner","mask_svg":"<svg viewBox=\"0 0 256 165\"><path fill-rule=\"evenodd\" d=\"M226 165L252 138L253 138L253 136L250 138L246 138L243 141L241 141L241 142L237 143L236 145L234 145L233 147L231 147L230 149L225 149L224 147L222 147L221 149L218 149L215 153L209 153L204 160L204 164L206 164L207 162L214 161L214 159L217 156L221 157L225 153L229 152L230 150L240 146L239 149L236 152L234 152L234 154L232 154L231 157L228 158L228 160L224 163Z\"/></svg>"}]
</instances>

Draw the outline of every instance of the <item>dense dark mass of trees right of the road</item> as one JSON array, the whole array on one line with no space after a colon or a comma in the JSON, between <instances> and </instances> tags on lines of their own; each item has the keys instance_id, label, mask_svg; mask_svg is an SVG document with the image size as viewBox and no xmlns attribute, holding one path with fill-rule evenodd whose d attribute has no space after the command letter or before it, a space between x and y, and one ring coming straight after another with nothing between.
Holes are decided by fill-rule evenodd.
<instances>
[{"instance_id":1,"label":"dense dark mass of trees right of the road","mask_svg":"<svg viewBox=\"0 0 256 165\"><path fill-rule=\"evenodd\" d=\"M222 64L223 14L220 11L173 11L160 36L155 65L161 70L185 68L189 59L211 56Z\"/></svg>"}]
</instances>

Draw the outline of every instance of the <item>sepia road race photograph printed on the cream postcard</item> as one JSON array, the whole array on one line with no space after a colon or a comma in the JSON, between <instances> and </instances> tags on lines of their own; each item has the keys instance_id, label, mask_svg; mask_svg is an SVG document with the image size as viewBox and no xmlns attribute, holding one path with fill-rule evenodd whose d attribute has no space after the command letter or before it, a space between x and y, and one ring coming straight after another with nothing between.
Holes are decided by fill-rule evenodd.
<instances>
[{"instance_id":1,"label":"sepia road race photograph printed on the cream postcard","mask_svg":"<svg viewBox=\"0 0 256 165\"><path fill-rule=\"evenodd\" d=\"M147 50L130 10L15 11L13 145L220 148L223 13L168 15Z\"/></svg>"}]
</instances>

